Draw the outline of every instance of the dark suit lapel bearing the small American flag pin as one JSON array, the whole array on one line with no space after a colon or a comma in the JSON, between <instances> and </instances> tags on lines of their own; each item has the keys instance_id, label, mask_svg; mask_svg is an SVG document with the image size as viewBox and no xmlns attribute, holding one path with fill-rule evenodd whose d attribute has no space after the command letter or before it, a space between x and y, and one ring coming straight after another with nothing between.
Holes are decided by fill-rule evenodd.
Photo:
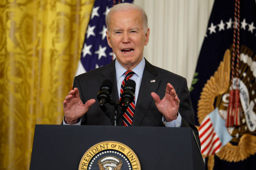
<instances>
[{"instance_id":1,"label":"dark suit lapel bearing the small American flag pin","mask_svg":"<svg viewBox=\"0 0 256 170\"><path fill-rule=\"evenodd\" d=\"M154 66L146 60L141 80L141 87L133 116L133 126L139 126L141 124L141 121L145 117L145 114L153 101L151 92L156 92L156 89L160 83L160 80L156 77L157 74L158 73L156 72Z\"/></svg>"}]
</instances>

